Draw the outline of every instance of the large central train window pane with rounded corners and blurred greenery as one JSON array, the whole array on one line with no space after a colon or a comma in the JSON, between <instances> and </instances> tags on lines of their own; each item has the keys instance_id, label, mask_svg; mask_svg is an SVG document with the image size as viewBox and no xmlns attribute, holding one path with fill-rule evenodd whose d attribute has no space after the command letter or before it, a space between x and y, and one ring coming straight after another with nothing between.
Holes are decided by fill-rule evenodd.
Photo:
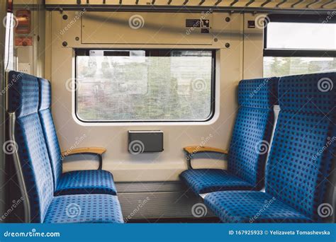
<instances>
[{"instance_id":1,"label":"large central train window pane with rounded corners and blurred greenery","mask_svg":"<svg viewBox=\"0 0 336 242\"><path fill-rule=\"evenodd\" d=\"M76 50L83 122L206 121L214 105L213 50Z\"/></svg>"}]
</instances>

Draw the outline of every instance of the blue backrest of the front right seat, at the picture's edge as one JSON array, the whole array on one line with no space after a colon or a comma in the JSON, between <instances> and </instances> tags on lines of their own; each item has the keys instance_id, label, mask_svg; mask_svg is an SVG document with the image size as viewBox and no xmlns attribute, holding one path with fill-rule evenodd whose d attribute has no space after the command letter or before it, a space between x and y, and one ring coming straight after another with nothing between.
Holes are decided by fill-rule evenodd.
<instances>
[{"instance_id":1,"label":"blue backrest of the front right seat, at the picture's edge","mask_svg":"<svg viewBox=\"0 0 336 242\"><path fill-rule=\"evenodd\" d=\"M320 221L336 154L336 73L281 77L279 105L265 190Z\"/></svg>"}]
</instances>

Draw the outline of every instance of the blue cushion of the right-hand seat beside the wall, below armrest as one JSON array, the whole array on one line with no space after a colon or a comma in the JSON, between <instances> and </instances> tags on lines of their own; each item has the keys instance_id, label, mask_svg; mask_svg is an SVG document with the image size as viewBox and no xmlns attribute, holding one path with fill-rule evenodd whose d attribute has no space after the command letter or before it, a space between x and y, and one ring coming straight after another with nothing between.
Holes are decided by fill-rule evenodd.
<instances>
[{"instance_id":1,"label":"blue cushion of the right-hand seat beside the wall, below armrest","mask_svg":"<svg viewBox=\"0 0 336 242\"><path fill-rule=\"evenodd\" d=\"M181 173L181 179L197 194L223 190L253 190L245 180L220 169L194 169Z\"/></svg>"}]
</instances>

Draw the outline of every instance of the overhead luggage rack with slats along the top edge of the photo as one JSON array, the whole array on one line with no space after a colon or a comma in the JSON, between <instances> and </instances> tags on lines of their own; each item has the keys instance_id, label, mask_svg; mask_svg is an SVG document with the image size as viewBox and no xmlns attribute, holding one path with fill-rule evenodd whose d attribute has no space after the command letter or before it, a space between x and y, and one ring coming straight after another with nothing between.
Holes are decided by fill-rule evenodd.
<instances>
[{"instance_id":1,"label":"overhead luggage rack with slats along the top edge of the photo","mask_svg":"<svg viewBox=\"0 0 336 242\"><path fill-rule=\"evenodd\" d=\"M331 11L335 0L45 0L49 9L55 8L100 8L116 11Z\"/></svg>"}]
</instances>

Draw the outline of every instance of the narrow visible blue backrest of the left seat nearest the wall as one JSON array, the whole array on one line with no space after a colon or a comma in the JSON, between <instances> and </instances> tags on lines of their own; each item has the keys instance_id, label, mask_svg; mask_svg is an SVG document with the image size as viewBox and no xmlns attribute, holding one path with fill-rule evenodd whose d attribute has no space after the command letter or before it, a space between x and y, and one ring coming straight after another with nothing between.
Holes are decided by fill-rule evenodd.
<instances>
[{"instance_id":1,"label":"narrow visible blue backrest of the left seat nearest the wall","mask_svg":"<svg viewBox=\"0 0 336 242\"><path fill-rule=\"evenodd\" d=\"M38 106L38 115L47 144L47 151L52 168L55 188L62 174L62 154L60 144L58 143L57 133L51 113L51 85L47 79L38 79L40 84L40 103Z\"/></svg>"}]
</instances>

